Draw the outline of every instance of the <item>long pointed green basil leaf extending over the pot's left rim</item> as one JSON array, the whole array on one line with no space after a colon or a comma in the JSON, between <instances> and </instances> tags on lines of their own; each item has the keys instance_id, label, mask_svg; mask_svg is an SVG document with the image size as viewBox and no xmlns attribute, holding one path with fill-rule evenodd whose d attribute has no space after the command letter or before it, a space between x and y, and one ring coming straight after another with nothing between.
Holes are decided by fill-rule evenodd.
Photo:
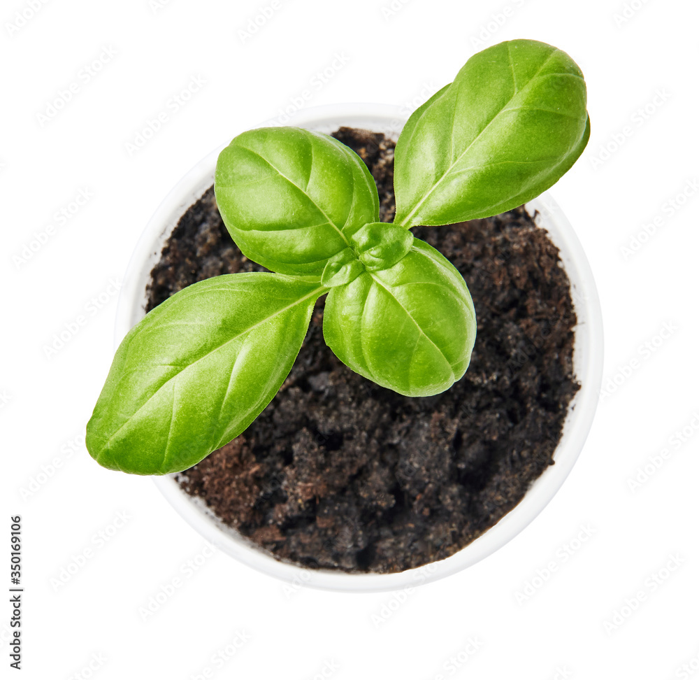
<instances>
[{"instance_id":1,"label":"long pointed green basil leaf extending over the pot's left rim","mask_svg":"<svg viewBox=\"0 0 699 680\"><path fill-rule=\"evenodd\" d=\"M100 465L167 474L243 432L286 378L317 284L226 274L181 290L131 329L87 424Z\"/></svg>"}]
</instances>

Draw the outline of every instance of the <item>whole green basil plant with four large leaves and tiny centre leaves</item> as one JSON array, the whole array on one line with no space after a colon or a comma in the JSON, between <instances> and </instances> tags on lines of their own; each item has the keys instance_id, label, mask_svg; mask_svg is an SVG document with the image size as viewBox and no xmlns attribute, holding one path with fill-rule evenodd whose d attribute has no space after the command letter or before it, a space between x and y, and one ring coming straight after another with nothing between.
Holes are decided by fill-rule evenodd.
<instances>
[{"instance_id":1,"label":"whole green basil plant with four large leaves and tiny centre leaves","mask_svg":"<svg viewBox=\"0 0 699 680\"><path fill-rule=\"evenodd\" d=\"M590 133L582 73L535 41L471 57L410 116L395 151L396 219L347 146L294 127L244 132L219 155L215 195L246 257L269 273L194 283L117 350L87 425L104 467L166 474L195 465L279 390L327 295L326 343L347 366L409 397L447 390L476 335L461 274L410 227L484 218L568 171Z\"/></svg>"}]
</instances>

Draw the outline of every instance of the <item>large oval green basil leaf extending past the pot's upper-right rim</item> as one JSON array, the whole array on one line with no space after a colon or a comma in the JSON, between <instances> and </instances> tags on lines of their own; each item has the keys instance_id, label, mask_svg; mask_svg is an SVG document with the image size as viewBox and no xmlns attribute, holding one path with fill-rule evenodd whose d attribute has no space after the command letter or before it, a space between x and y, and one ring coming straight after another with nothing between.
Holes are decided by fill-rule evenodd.
<instances>
[{"instance_id":1,"label":"large oval green basil leaf extending past the pot's upper-right rim","mask_svg":"<svg viewBox=\"0 0 699 680\"><path fill-rule=\"evenodd\" d=\"M567 172L589 139L586 87L551 45L515 40L471 57L412 114L396 145L396 224L511 210Z\"/></svg>"}]
</instances>

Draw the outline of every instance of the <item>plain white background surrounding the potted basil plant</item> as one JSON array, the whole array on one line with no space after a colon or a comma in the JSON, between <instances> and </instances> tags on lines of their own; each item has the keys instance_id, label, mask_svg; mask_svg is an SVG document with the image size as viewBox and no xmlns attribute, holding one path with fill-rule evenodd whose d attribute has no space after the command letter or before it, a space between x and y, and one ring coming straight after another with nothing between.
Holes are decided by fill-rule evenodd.
<instances>
[{"instance_id":1,"label":"plain white background surrounding the potted basil plant","mask_svg":"<svg viewBox=\"0 0 699 680\"><path fill-rule=\"evenodd\" d=\"M668 203L699 178L699 8L690 0L633 0L624 19L623 0L404 0L382 11L390 1L280 0L246 37L240 31L271 1L43 0L15 30L8 24L29 0L3 0L0 427L10 474L0 476L0 587L9 585L9 517L19 513L24 677L82 671L99 680L187 680L208 669L209 677L303 680L339 666L338 680L662 679L692 677L683 664L690 674L699 667L699 419L691 425L699 413L699 198L679 199L674 214ZM81 443L113 355L110 281L123 275L148 218L192 165L293 106L303 90L312 90L304 106L415 108L474 52L509 38L567 51L589 87L589 147L552 195L598 283L605 382L616 375L621 385L600 402L568 481L505 548L401 597L397 608L391 593L290 592L222 554L187 578L203 539L152 480L101 469ZM115 56L89 82L80 78L103 48ZM323 87L312 86L336 53L346 63ZM192 76L206 85L129 153L127 144ZM73 82L78 92L48 115ZM602 148L612 153L600 156ZM59 225L56 211L81 190L92 194L89 202ZM625 257L622 248L656 217L661 227ZM55 233L22 257L50 225ZM88 311L103 293L109 301ZM53 335L81 314L87 323L48 357ZM665 324L676 330L645 352ZM628 377L624 367L632 367ZM683 427L679 442L674 433ZM74 441L70 455L66 444ZM663 449L669 458L653 470L649 461ZM55 459L60 467L42 472ZM653 474L631 490L644 465ZM36 491L20 493L32 479ZM99 546L98 532L111 532L117 512L127 522ZM563 561L582 525L592 537ZM55 586L85 548L92 558ZM650 586L673 555L680 567ZM552 560L556 572L518 602ZM182 587L143 621L139 608L175 576ZM638 591L644 602L624 609L630 615L616 630L605 627ZM377 623L389 604L394 613ZM2 605L2 677L14 673L5 674L9 616ZM218 667L213 655L240 632L250 639ZM452 665L469 637L477 650Z\"/></svg>"}]
</instances>

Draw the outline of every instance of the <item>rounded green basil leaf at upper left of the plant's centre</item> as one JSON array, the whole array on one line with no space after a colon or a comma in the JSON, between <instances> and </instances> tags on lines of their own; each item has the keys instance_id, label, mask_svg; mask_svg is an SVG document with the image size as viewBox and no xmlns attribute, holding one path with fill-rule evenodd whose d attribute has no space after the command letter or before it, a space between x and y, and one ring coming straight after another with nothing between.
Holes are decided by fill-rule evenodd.
<instances>
[{"instance_id":1,"label":"rounded green basil leaf at upper left of the plant's centre","mask_svg":"<svg viewBox=\"0 0 699 680\"><path fill-rule=\"evenodd\" d=\"M330 136L295 127L243 132L219 155L215 192L233 241L280 274L321 276L379 199L367 167Z\"/></svg>"}]
</instances>

